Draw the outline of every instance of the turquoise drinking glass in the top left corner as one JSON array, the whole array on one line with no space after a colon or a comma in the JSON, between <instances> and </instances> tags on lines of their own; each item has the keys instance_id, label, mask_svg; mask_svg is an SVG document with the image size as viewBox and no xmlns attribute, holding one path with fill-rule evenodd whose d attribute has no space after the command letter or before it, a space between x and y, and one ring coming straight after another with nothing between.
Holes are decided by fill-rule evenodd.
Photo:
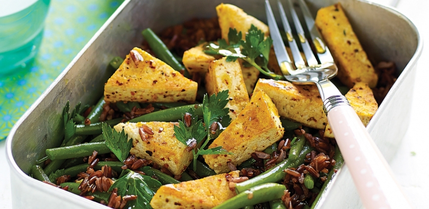
<instances>
[{"instance_id":1,"label":"turquoise drinking glass in the top left corner","mask_svg":"<svg viewBox=\"0 0 429 209\"><path fill-rule=\"evenodd\" d=\"M36 55L50 0L0 0L0 75L25 67Z\"/></svg>"}]
</instances>

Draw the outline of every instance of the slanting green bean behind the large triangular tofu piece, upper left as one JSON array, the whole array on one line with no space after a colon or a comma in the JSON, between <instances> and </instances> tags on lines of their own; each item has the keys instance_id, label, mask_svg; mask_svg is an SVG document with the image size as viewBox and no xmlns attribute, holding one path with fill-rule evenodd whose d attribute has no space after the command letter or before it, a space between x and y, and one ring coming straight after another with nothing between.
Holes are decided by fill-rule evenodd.
<instances>
[{"instance_id":1,"label":"slanting green bean behind the large triangular tofu piece, upper left","mask_svg":"<svg viewBox=\"0 0 429 209\"><path fill-rule=\"evenodd\" d=\"M161 39L149 28L142 31L144 39L149 43L150 49L155 53L156 57L159 60L164 61L176 71L182 72L185 70L183 65L180 64L178 60L175 59L167 46L162 42Z\"/></svg>"}]
</instances>

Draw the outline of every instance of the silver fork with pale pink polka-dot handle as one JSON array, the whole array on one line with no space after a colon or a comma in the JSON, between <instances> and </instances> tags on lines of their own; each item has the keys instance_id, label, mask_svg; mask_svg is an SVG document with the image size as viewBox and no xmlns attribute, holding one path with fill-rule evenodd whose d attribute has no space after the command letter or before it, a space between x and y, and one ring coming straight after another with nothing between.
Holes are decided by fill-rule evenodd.
<instances>
[{"instance_id":1,"label":"silver fork with pale pink polka-dot handle","mask_svg":"<svg viewBox=\"0 0 429 209\"><path fill-rule=\"evenodd\" d=\"M329 49L323 43L304 0L298 0L298 3L304 16L304 21L310 31L310 37L316 49L315 54L318 56L319 61L306 39L294 5L290 0L286 1L295 30L298 33L299 43L301 43L308 63L306 65L301 57L297 41L294 40L288 24L286 12L282 3L278 1L286 38L294 59L294 63L291 62L270 3L265 0L265 10L271 38L273 39L274 52L286 80L299 85L316 84L323 101L323 110L365 208L411 209L412 207L394 179L389 165L357 117L356 112L350 106L349 101L329 81L330 78L337 74L338 68Z\"/></svg>"}]
</instances>

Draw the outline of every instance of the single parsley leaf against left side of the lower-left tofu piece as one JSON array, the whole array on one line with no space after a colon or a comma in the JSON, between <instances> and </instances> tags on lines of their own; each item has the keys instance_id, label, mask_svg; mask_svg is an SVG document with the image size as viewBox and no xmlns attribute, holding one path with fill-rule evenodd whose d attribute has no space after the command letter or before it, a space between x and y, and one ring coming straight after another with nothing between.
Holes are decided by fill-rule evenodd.
<instances>
[{"instance_id":1,"label":"single parsley leaf against left side of the lower-left tofu piece","mask_svg":"<svg viewBox=\"0 0 429 209\"><path fill-rule=\"evenodd\" d=\"M125 134L124 129L119 133L106 123L102 123L102 130L107 147L121 162L124 162L133 146L133 140L128 140L128 135Z\"/></svg>"}]
</instances>

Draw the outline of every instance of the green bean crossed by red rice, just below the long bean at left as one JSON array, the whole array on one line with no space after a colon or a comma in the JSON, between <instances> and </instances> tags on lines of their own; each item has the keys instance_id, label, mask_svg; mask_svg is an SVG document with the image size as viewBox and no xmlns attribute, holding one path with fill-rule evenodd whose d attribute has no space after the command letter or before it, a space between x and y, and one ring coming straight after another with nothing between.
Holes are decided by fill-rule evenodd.
<instances>
[{"instance_id":1,"label":"green bean crossed by red rice, just below the long bean at left","mask_svg":"<svg viewBox=\"0 0 429 209\"><path fill-rule=\"evenodd\" d=\"M105 165L110 166L112 170L116 171L117 173L121 173L122 172L121 167L124 165L124 163L119 161L101 161L94 166L94 170L101 170L101 168ZM49 175L49 179L55 180L58 177L61 177L63 175L70 175L70 177L75 177L80 172L86 172L87 168L88 168L88 163L84 163L84 164L76 165L67 169L61 169Z\"/></svg>"}]
</instances>

